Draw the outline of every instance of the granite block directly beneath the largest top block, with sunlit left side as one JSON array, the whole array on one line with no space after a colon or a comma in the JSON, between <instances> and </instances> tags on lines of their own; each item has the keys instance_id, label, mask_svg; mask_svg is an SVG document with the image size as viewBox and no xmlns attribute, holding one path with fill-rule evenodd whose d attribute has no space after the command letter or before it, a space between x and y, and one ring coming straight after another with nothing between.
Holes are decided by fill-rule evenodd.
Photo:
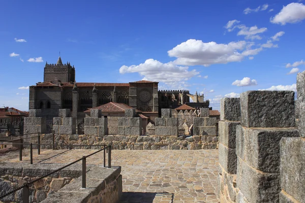
<instances>
[{"instance_id":1,"label":"granite block directly beneath the largest top block, with sunlit left side","mask_svg":"<svg viewBox=\"0 0 305 203\"><path fill-rule=\"evenodd\" d=\"M295 128L244 128L243 138L236 143L237 155L250 166L266 173L280 172L280 141L283 137L299 137ZM243 145L242 145L243 143ZM242 145L242 146L241 146ZM243 151L243 153L240 153Z\"/></svg>"}]
</instances>

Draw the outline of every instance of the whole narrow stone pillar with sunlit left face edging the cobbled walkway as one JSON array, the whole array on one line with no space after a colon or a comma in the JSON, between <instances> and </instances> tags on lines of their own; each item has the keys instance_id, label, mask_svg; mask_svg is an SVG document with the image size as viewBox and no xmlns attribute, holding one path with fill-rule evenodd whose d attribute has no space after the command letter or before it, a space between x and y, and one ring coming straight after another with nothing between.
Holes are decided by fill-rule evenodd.
<instances>
[{"instance_id":1,"label":"whole narrow stone pillar with sunlit left face edging the cobbled walkway","mask_svg":"<svg viewBox=\"0 0 305 203\"><path fill-rule=\"evenodd\" d=\"M237 156L236 126L240 125L240 99L221 99L221 121L219 121L219 188L221 202L235 202Z\"/></svg>"}]
</instances>

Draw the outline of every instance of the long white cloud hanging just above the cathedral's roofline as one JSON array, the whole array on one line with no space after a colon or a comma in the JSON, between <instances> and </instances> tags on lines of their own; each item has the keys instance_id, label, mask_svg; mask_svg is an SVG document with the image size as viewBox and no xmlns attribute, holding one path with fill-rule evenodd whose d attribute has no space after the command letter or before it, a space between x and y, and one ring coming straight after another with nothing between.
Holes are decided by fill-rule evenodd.
<instances>
[{"instance_id":1,"label":"long white cloud hanging just above the cathedral's roofline","mask_svg":"<svg viewBox=\"0 0 305 203\"><path fill-rule=\"evenodd\" d=\"M189 71L188 66L178 66L172 61L162 63L158 60L147 59L139 65L123 65L119 69L120 74L139 73L146 80L164 82L170 87L185 88L190 78L199 75L195 69Z\"/></svg>"}]
</instances>

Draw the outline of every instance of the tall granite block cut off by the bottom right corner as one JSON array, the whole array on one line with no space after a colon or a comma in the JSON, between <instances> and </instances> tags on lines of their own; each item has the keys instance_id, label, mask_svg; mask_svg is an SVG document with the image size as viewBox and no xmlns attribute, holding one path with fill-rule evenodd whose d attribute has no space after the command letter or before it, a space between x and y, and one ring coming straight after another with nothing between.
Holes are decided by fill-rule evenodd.
<instances>
[{"instance_id":1,"label":"tall granite block cut off by the bottom right corner","mask_svg":"<svg viewBox=\"0 0 305 203\"><path fill-rule=\"evenodd\" d=\"M305 140L281 140L281 185L293 198L305 202Z\"/></svg>"}]
</instances>

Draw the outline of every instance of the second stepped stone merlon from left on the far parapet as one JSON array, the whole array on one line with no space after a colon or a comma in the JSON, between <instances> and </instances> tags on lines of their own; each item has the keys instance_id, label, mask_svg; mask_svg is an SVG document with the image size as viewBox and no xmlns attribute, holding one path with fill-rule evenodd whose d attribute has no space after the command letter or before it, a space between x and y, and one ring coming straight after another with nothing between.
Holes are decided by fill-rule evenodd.
<instances>
[{"instance_id":1,"label":"second stepped stone merlon from left on the far parapet","mask_svg":"<svg viewBox=\"0 0 305 203\"><path fill-rule=\"evenodd\" d=\"M59 117L53 118L53 131L55 134L75 134L76 118L71 117L70 109L59 109Z\"/></svg>"}]
</instances>

